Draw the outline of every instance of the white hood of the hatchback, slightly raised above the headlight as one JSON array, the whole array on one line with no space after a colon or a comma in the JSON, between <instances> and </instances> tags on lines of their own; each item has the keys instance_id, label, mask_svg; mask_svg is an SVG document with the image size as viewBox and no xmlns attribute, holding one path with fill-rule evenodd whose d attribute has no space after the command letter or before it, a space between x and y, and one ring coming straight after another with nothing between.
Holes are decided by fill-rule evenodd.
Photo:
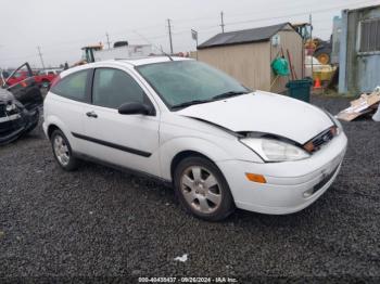
<instances>
[{"instance_id":1,"label":"white hood of the hatchback, slightly raised above the headlight","mask_svg":"<svg viewBox=\"0 0 380 284\"><path fill-rule=\"evenodd\" d=\"M324 111L289 96L264 91L192 105L177 114L235 132L276 134L301 144L333 126Z\"/></svg>"}]
</instances>

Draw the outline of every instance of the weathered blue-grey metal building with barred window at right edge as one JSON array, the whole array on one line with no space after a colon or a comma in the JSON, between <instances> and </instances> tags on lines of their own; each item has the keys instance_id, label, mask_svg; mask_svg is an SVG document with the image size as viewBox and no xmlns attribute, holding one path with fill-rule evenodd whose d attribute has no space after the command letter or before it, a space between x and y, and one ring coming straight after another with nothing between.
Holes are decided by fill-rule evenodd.
<instances>
[{"instance_id":1,"label":"weathered blue-grey metal building with barred window at right edge","mask_svg":"<svg viewBox=\"0 0 380 284\"><path fill-rule=\"evenodd\" d=\"M380 86L380 5L342 11L339 92L359 94Z\"/></svg>"}]
</instances>

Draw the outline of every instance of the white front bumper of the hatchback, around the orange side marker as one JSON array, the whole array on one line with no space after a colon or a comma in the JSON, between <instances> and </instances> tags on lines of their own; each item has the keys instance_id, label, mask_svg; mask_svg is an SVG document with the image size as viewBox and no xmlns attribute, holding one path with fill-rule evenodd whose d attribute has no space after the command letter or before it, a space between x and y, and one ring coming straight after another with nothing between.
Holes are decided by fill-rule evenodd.
<instances>
[{"instance_id":1,"label":"white front bumper of the hatchback, around the orange side marker","mask_svg":"<svg viewBox=\"0 0 380 284\"><path fill-rule=\"evenodd\" d=\"M284 215L306 208L327 191L339 173L346 145L342 132L307 159L265 164L224 160L217 166L238 208ZM249 181L245 173L263 175L266 183Z\"/></svg>"}]
</instances>

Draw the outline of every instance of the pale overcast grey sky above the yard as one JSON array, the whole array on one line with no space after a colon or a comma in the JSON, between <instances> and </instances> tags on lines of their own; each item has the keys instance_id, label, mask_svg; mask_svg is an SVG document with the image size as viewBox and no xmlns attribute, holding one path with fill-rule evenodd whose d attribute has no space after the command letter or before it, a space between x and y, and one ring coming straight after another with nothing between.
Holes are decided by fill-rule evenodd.
<instances>
[{"instance_id":1,"label":"pale overcast grey sky above the yard","mask_svg":"<svg viewBox=\"0 0 380 284\"><path fill-rule=\"evenodd\" d=\"M341 10L380 4L380 0L0 0L0 67L29 62L40 68L40 47L47 67L80 60L80 48L128 40L152 43L169 52L167 20L170 20L174 52L195 49L221 31L308 22L314 35L329 39L333 16Z\"/></svg>"}]
</instances>

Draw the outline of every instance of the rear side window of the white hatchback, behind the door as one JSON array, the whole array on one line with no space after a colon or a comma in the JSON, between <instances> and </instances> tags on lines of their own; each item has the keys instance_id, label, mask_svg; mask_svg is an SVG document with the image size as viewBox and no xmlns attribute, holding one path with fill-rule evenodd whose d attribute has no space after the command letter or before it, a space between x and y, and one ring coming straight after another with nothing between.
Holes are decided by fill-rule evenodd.
<instances>
[{"instance_id":1,"label":"rear side window of the white hatchback, behind the door","mask_svg":"<svg viewBox=\"0 0 380 284\"><path fill-rule=\"evenodd\" d=\"M59 95L85 101L86 100L86 83L89 70L80 70L68 75L59 81L52 89L51 92Z\"/></svg>"}]
</instances>

